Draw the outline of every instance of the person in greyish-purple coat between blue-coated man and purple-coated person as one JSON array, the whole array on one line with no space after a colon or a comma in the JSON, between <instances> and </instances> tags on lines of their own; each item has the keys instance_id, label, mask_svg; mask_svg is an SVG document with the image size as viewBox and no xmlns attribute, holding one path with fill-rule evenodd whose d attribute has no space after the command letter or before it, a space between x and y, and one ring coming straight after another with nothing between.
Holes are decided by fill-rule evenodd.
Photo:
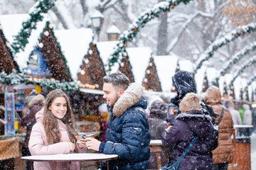
<instances>
[{"instance_id":1,"label":"person in greyish-purple coat between blue-coated man and purple-coated person","mask_svg":"<svg viewBox=\"0 0 256 170\"><path fill-rule=\"evenodd\" d=\"M167 106L162 101L154 101L150 106L149 132L151 140L161 140L164 130L169 127L166 122ZM165 153L161 153L163 164L166 164ZM149 169L157 169L156 152L150 152Z\"/></svg>"}]
</instances>

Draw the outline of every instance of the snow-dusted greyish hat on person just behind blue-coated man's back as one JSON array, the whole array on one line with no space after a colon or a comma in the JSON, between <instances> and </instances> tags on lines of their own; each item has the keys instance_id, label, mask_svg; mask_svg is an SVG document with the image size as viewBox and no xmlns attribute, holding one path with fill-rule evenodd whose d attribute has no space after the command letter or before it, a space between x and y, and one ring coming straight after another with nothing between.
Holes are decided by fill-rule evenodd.
<instances>
[{"instance_id":1,"label":"snow-dusted greyish hat on person just behind blue-coated man's back","mask_svg":"<svg viewBox=\"0 0 256 170\"><path fill-rule=\"evenodd\" d=\"M150 107L150 115L158 115L159 118L166 118L167 106L162 101L154 101Z\"/></svg>"}]
</instances>

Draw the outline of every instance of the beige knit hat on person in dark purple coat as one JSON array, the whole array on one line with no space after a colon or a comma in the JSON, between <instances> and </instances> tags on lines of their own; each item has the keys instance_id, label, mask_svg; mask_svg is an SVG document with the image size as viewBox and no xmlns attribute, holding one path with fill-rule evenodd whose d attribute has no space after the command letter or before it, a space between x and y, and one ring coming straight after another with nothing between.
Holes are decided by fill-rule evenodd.
<instances>
[{"instance_id":1,"label":"beige knit hat on person in dark purple coat","mask_svg":"<svg viewBox=\"0 0 256 170\"><path fill-rule=\"evenodd\" d=\"M188 111L198 110L201 111L200 97L194 93L188 93L181 101L179 109L182 113Z\"/></svg>"}]
</instances>

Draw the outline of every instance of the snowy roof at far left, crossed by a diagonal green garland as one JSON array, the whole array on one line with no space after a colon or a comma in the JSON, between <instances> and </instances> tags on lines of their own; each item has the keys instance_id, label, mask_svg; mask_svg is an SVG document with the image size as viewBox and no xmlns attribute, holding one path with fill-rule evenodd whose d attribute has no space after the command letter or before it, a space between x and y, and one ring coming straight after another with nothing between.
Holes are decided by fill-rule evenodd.
<instances>
[{"instance_id":1,"label":"snowy roof at far left, crossed by a diagonal green garland","mask_svg":"<svg viewBox=\"0 0 256 170\"><path fill-rule=\"evenodd\" d=\"M46 21L48 21L47 14L42 14L45 17L43 21L36 24L36 30L32 30L30 38L28 38L28 44L26 45L24 51L20 51L16 54L16 61L20 69L25 69L27 66L27 60L29 54L33 51L34 47L38 45L38 38L43 32L43 28L46 26ZM22 22L28 20L28 13L24 14L14 14L14 15L2 15L0 16L1 26L3 26L3 32L6 39L12 43L14 42L14 35L18 35L18 32L22 28Z\"/></svg>"}]
</instances>

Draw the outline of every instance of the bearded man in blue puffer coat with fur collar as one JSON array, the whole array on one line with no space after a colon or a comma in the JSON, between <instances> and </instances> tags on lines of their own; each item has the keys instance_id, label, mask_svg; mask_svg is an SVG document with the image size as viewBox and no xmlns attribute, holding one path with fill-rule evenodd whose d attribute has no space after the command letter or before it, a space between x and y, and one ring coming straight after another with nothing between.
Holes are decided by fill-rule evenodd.
<instances>
[{"instance_id":1,"label":"bearded man in blue puffer coat with fur collar","mask_svg":"<svg viewBox=\"0 0 256 170\"><path fill-rule=\"evenodd\" d=\"M110 114L107 142L87 138L87 148L117 154L118 159L109 162L110 169L148 169L151 136L142 85L129 84L129 79L122 73L105 76L103 82L103 98ZM106 164L100 169L107 169Z\"/></svg>"}]
</instances>

